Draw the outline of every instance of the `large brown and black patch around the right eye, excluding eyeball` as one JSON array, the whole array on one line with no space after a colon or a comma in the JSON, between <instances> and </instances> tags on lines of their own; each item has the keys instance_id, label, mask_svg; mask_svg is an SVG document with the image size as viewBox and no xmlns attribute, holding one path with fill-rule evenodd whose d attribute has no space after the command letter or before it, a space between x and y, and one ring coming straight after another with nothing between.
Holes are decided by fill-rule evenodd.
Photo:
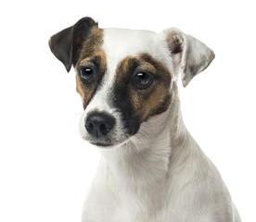
<instances>
[{"instance_id":1,"label":"large brown and black patch around the right eye, excluding eyeball","mask_svg":"<svg viewBox=\"0 0 256 222\"><path fill-rule=\"evenodd\" d=\"M147 73L151 80L146 87L138 87L134 77ZM128 56L116 71L114 105L120 109L125 126L134 133L148 117L166 111L171 103L171 73L158 59L144 53Z\"/></svg>"}]
</instances>

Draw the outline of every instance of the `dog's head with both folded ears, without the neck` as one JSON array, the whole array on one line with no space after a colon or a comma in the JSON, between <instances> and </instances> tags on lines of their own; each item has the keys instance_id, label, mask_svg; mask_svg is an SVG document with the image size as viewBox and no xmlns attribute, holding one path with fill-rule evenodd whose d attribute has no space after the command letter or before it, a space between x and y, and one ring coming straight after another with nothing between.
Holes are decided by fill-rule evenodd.
<instances>
[{"instance_id":1,"label":"dog's head with both folded ears, without the neck","mask_svg":"<svg viewBox=\"0 0 256 222\"><path fill-rule=\"evenodd\" d=\"M90 18L53 35L49 45L67 71L75 68L82 135L98 146L127 141L168 109L180 71L186 86L214 58L204 43L177 29L99 29Z\"/></svg>"}]
</instances>

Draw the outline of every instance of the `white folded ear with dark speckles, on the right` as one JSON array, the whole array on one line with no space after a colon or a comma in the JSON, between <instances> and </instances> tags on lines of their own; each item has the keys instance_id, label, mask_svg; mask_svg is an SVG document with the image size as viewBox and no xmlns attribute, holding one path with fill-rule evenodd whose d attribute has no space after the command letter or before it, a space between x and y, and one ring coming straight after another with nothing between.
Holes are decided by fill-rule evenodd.
<instances>
[{"instance_id":1,"label":"white folded ear with dark speckles, on the right","mask_svg":"<svg viewBox=\"0 0 256 222\"><path fill-rule=\"evenodd\" d=\"M181 71L182 83L186 87L194 76L211 64L214 53L206 44L178 29L168 29L163 34L171 52L174 71Z\"/></svg>"}]
</instances>

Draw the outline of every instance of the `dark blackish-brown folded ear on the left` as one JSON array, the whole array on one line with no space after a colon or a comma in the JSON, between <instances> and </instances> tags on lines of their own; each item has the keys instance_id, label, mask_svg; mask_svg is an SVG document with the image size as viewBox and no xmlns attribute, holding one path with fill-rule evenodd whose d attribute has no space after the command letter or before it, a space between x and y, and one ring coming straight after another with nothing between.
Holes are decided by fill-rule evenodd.
<instances>
[{"instance_id":1,"label":"dark blackish-brown folded ear on the left","mask_svg":"<svg viewBox=\"0 0 256 222\"><path fill-rule=\"evenodd\" d=\"M77 63L83 42L94 26L97 27L96 21L86 17L50 38L49 46L52 53L64 64L68 72L71 65L75 66Z\"/></svg>"}]
</instances>

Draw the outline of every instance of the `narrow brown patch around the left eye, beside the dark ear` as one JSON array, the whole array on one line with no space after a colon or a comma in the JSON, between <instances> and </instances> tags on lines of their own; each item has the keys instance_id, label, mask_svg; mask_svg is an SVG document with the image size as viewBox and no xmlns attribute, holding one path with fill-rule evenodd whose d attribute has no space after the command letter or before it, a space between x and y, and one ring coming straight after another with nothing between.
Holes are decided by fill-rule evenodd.
<instances>
[{"instance_id":1,"label":"narrow brown patch around the left eye, beside the dark ear","mask_svg":"<svg viewBox=\"0 0 256 222\"><path fill-rule=\"evenodd\" d=\"M92 28L88 38L83 43L78 63L76 65L76 90L83 98L83 108L85 109L107 70L105 53L102 50L103 30ZM80 68L88 67L94 70L94 80L86 82L80 78Z\"/></svg>"}]
</instances>

